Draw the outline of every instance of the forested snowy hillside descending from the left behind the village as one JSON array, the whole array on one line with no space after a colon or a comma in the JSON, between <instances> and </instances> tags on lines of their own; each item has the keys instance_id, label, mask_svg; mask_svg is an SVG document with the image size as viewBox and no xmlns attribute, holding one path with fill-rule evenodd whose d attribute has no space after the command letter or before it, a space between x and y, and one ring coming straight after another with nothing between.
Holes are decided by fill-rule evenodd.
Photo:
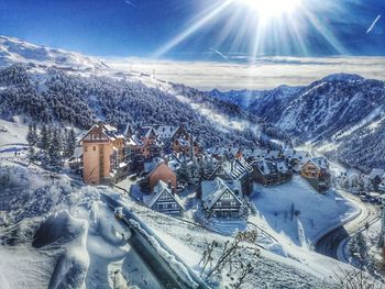
<instances>
[{"instance_id":1,"label":"forested snowy hillside descending from the left behind the village","mask_svg":"<svg viewBox=\"0 0 385 289\"><path fill-rule=\"evenodd\" d=\"M0 116L88 129L185 124L205 145L254 146L258 119L208 93L80 54L0 37ZM251 129L252 127L252 129Z\"/></svg>"}]
</instances>

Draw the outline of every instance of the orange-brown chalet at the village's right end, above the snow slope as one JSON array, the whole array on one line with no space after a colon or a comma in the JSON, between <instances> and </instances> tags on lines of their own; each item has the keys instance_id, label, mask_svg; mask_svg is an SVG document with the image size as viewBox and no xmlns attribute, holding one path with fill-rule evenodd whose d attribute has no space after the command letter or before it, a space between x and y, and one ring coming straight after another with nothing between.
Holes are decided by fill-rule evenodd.
<instances>
[{"instance_id":1,"label":"orange-brown chalet at the village's right end, above the snow slope","mask_svg":"<svg viewBox=\"0 0 385 289\"><path fill-rule=\"evenodd\" d=\"M300 176L305 178L317 191L329 189L329 163L324 157L309 159L301 168Z\"/></svg>"}]
</instances>

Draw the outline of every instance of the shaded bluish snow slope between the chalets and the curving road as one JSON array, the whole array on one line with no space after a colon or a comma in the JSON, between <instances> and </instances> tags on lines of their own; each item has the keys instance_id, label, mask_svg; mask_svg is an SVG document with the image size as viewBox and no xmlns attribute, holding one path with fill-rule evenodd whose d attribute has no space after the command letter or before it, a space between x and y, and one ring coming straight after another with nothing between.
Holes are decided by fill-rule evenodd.
<instances>
[{"instance_id":1,"label":"shaded bluish snow slope between the chalets and the curving road","mask_svg":"<svg viewBox=\"0 0 385 289\"><path fill-rule=\"evenodd\" d=\"M310 246L330 227L354 216L358 208L338 192L317 192L305 179L294 176L290 182L263 187L256 185L252 201L261 219L286 243ZM298 216L290 220L292 204Z\"/></svg>"}]
</instances>

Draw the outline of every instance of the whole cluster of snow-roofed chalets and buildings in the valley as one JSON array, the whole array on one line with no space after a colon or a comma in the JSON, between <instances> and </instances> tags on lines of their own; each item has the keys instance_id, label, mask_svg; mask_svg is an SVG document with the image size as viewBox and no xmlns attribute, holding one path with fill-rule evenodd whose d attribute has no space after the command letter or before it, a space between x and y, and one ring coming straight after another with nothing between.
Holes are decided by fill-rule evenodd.
<instances>
[{"instance_id":1,"label":"whole cluster of snow-roofed chalets and buildings in the valley","mask_svg":"<svg viewBox=\"0 0 385 289\"><path fill-rule=\"evenodd\" d=\"M116 186L161 213L180 218L194 208L190 216L201 224L246 220L254 185L279 186L298 175L326 193L331 182L324 157L293 148L205 148L182 125L128 125L119 133L99 122L68 163L86 184Z\"/></svg>"}]
</instances>

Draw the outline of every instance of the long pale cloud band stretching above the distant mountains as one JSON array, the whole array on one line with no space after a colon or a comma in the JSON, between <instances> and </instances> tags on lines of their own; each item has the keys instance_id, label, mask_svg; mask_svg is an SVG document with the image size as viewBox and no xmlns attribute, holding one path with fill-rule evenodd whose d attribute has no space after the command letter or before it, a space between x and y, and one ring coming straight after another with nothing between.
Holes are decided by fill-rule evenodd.
<instances>
[{"instance_id":1,"label":"long pale cloud band stretching above the distant mountains","mask_svg":"<svg viewBox=\"0 0 385 289\"><path fill-rule=\"evenodd\" d=\"M232 58L233 59L233 58ZM141 58L106 59L109 66L151 74L202 90L271 89L308 85L337 73L385 80L385 57L263 57L246 63L174 62Z\"/></svg>"}]
</instances>

